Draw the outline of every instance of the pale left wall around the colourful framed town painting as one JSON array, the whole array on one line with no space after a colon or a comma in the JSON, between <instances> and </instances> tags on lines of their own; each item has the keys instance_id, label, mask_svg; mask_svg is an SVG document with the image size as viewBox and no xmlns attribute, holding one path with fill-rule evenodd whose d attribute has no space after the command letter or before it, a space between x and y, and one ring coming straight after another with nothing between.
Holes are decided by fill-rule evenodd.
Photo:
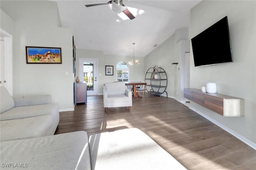
<instances>
[{"instance_id":1,"label":"pale left wall around the colourful framed town painting","mask_svg":"<svg viewBox=\"0 0 256 170\"><path fill-rule=\"evenodd\" d=\"M58 28L60 22L56 2L1 1L1 9L15 23L13 95L51 94L52 100L58 101L60 111L72 110L72 30ZM1 27L8 28L8 23ZM26 64L25 46L60 47L62 64Z\"/></svg>"}]
</instances>

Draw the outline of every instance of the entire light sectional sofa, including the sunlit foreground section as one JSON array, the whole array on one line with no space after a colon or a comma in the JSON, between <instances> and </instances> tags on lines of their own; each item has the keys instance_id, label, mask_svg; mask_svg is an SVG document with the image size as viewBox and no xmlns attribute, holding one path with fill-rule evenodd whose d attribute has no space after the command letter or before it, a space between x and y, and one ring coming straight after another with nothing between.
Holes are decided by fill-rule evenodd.
<instances>
[{"instance_id":1,"label":"entire light sectional sofa, including the sunlit foreground section","mask_svg":"<svg viewBox=\"0 0 256 170\"><path fill-rule=\"evenodd\" d=\"M12 97L1 87L0 169L186 170L137 128L53 135L58 104L50 95Z\"/></svg>"}]
</instances>

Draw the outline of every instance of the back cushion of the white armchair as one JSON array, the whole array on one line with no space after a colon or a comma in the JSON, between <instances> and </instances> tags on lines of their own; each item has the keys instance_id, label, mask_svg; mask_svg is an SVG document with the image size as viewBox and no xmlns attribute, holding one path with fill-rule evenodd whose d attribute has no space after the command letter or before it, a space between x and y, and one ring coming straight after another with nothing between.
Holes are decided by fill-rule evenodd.
<instances>
[{"instance_id":1,"label":"back cushion of the white armchair","mask_svg":"<svg viewBox=\"0 0 256 170\"><path fill-rule=\"evenodd\" d=\"M124 82L105 83L108 95L125 94Z\"/></svg>"}]
</instances>

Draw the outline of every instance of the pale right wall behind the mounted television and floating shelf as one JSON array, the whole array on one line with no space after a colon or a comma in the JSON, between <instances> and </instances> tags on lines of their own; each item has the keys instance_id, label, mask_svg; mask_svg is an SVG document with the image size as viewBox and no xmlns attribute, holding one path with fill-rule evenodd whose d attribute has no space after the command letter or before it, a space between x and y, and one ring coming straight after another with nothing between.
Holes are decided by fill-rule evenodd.
<instances>
[{"instance_id":1,"label":"pale right wall behind the mounted television and floating shelf","mask_svg":"<svg viewBox=\"0 0 256 170\"><path fill-rule=\"evenodd\" d=\"M232 63L194 67L191 49L191 88L207 82L217 93L244 99L244 117L223 117L191 102L199 111L256 149L256 1L202 1L191 10L191 38L228 16Z\"/></svg>"}]
</instances>

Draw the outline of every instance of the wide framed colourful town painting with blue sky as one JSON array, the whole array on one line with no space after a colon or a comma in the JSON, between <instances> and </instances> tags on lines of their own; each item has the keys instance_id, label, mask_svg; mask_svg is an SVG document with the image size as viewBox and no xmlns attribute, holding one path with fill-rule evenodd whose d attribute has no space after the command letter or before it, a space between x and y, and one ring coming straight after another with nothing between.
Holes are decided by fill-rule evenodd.
<instances>
[{"instance_id":1,"label":"wide framed colourful town painting with blue sky","mask_svg":"<svg viewBox=\"0 0 256 170\"><path fill-rule=\"evenodd\" d=\"M62 64L61 48L26 46L27 64Z\"/></svg>"}]
</instances>

